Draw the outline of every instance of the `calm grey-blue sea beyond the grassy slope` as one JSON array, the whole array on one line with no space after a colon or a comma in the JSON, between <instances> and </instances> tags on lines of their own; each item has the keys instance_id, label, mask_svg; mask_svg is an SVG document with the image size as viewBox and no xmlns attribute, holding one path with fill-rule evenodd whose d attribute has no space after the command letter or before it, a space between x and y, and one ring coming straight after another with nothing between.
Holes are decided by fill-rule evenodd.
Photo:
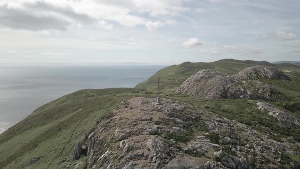
<instances>
[{"instance_id":1,"label":"calm grey-blue sea beyond the grassy slope","mask_svg":"<svg viewBox=\"0 0 300 169\"><path fill-rule=\"evenodd\" d=\"M0 67L0 133L35 109L81 89L134 88L166 66Z\"/></svg>"}]
</instances>

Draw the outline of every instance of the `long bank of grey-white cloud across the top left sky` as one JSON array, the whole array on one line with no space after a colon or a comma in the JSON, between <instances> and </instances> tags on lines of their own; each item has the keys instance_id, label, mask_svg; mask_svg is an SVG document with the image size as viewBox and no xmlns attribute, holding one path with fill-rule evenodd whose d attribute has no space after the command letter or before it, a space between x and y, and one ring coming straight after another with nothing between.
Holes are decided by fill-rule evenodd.
<instances>
[{"instance_id":1,"label":"long bank of grey-white cloud across the top left sky","mask_svg":"<svg viewBox=\"0 0 300 169\"><path fill-rule=\"evenodd\" d=\"M90 26L112 29L112 23L128 27L146 25L151 29L161 21L147 22L146 16L170 18L187 12L183 4L190 0L2 0L0 26L12 30L67 30L71 26ZM171 20L169 20L171 21ZM164 24L170 24L168 21Z\"/></svg>"}]
</instances>

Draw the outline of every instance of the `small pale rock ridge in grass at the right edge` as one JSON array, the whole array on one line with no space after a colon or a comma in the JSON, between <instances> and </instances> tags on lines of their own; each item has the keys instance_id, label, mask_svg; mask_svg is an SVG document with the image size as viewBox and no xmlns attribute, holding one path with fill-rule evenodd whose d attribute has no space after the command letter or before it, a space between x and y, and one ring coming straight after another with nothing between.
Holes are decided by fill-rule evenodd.
<instances>
[{"instance_id":1,"label":"small pale rock ridge in grass at the right edge","mask_svg":"<svg viewBox=\"0 0 300 169\"><path fill-rule=\"evenodd\" d=\"M257 106L258 109L266 111L268 115L276 118L281 125L300 129L300 122L296 118L276 106L265 102L258 102Z\"/></svg>"}]
</instances>

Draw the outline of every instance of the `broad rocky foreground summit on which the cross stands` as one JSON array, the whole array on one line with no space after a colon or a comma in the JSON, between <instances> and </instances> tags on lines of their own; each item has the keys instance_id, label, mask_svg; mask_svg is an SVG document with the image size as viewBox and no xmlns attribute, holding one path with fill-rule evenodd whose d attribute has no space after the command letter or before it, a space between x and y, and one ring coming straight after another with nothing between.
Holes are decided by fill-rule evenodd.
<instances>
[{"instance_id":1,"label":"broad rocky foreground summit on which the cross stands","mask_svg":"<svg viewBox=\"0 0 300 169\"><path fill-rule=\"evenodd\" d=\"M125 102L82 142L89 168L277 168L282 151L294 153L289 143L196 106L141 97Z\"/></svg>"}]
</instances>

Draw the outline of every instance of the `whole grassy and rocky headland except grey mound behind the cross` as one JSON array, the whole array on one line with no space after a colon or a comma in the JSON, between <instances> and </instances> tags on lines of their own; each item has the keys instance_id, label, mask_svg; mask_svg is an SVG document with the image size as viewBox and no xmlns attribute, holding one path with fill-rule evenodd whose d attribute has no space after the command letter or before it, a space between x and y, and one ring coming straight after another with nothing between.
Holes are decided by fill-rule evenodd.
<instances>
[{"instance_id":1,"label":"whole grassy and rocky headland except grey mound behind the cross","mask_svg":"<svg viewBox=\"0 0 300 169\"><path fill-rule=\"evenodd\" d=\"M254 65L277 69L261 74L247 68ZM222 79L255 77L287 99L203 98L170 90L202 69ZM151 80L158 76L163 105L154 104ZM227 59L170 66L134 89L77 91L0 134L0 168L299 168L299 84L300 67L293 64Z\"/></svg>"}]
</instances>

